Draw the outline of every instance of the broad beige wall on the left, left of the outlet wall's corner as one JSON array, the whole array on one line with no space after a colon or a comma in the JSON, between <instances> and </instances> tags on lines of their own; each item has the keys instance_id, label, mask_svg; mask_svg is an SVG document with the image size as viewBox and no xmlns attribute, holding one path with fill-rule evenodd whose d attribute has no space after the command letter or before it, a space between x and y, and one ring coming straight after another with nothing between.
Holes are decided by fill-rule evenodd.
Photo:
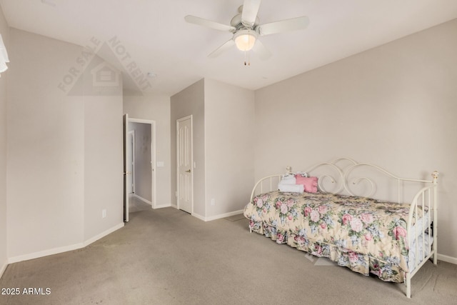
<instances>
[{"instance_id":1,"label":"broad beige wall on the left, left of the outlet wall's corner","mask_svg":"<svg viewBox=\"0 0 457 305\"><path fill-rule=\"evenodd\" d=\"M79 48L10 33L9 258L76 244L84 233L84 104L57 89Z\"/></svg>"}]
</instances>

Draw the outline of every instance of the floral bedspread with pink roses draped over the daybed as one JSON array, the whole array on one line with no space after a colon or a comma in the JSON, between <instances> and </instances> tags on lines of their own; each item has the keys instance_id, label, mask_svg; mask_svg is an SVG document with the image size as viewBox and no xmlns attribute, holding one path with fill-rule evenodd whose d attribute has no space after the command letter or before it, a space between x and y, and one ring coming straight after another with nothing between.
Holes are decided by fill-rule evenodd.
<instances>
[{"instance_id":1,"label":"floral bedspread with pink roses draped over the daybed","mask_svg":"<svg viewBox=\"0 0 457 305\"><path fill-rule=\"evenodd\" d=\"M253 231L383 281L408 271L409 205L329 193L273 191L244 209ZM421 211L420 211L421 212ZM421 215L418 215L421 217Z\"/></svg>"}]
</instances>

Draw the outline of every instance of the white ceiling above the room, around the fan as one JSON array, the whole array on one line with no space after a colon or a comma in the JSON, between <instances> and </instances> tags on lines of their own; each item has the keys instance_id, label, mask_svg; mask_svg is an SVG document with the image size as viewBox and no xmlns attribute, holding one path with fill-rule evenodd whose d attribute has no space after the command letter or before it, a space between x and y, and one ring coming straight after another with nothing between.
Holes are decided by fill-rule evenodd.
<instances>
[{"instance_id":1,"label":"white ceiling above the room, around the fan","mask_svg":"<svg viewBox=\"0 0 457 305\"><path fill-rule=\"evenodd\" d=\"M456 0L263 0L261 24L308 16L305 30L262 36L265 61L251 66L235 47L207 55L229 32L188 24L191 14L229 24L243 0L0 0L9 26L81 46L116 36L157 94L172 95L204 77L259 89L388 41L457 18ZM101 52L101 51L100 51ZM102 57L103 53L99 54ZM126 61L120 61L126 66ZM119 64L112 63L119 66ZM127 86L134 84L127 83Z\"/></svg>"}]
</instances>

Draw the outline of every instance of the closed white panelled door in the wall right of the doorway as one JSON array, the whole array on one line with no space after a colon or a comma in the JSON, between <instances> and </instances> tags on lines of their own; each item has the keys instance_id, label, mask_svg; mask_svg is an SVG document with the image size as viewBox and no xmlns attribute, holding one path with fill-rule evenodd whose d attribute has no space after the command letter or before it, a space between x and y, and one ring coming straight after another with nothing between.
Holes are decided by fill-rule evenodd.
<instances>
[{"instance_id":1,"label":"closed white panelled door in the wall right of the doorway","mask_svg":"<svg viewBox=\"0 0 457 305\"><path fill-rule=\"evenodd\" d=\"M193 173L192 173L192 116L176 121L176 167L178 171L178 209L192 214Z\"/></svg>"}]
</instances>

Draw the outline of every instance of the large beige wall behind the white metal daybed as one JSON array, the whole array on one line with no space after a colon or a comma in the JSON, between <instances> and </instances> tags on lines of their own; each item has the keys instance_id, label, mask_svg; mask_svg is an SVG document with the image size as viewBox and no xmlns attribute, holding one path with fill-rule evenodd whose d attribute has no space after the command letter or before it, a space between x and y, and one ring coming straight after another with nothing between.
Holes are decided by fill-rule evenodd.
<instances>
[{"instance_id":1,"label":"large beige wall behind the white metal daybed","mask_svg":"<svg viewBox=\"0 0 457 305\"><path fill-rule=\"evenodd\" d=\"M256 177L337 156L439 179L441 258L457 262L457 20L256 91Z\"/></svg>"}]
</instances>

